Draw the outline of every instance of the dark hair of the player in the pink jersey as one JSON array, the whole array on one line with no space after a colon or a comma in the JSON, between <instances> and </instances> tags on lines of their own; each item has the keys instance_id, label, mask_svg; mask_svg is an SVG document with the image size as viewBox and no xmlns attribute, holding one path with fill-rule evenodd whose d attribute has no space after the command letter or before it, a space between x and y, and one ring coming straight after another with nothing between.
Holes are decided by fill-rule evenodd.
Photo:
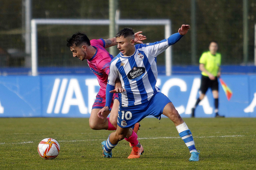
<instances>
[{"instance_id":1,"label":"dark hair of the player in the pink jersey","mask_svg":"<svg viewBox=\"0 0 256 170\"><path fill-rule=\"evenodd\" d=\"M91 45L89 38L85 33L77 32L71 37L67 38L67 47L77 47L85 42L87 45Z\"/></svg>"}]
</instances>

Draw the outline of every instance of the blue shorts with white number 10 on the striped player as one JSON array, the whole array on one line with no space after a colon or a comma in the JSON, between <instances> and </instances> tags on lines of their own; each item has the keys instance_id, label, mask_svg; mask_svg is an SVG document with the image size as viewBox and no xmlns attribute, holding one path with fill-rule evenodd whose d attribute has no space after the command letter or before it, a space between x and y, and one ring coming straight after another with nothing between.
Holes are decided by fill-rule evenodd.
<instances>
[{"instance_id":1,"label":"blue shorts with white number 10 on the striped player","mask_svg":"<svg viewBox=\"0 0 256 170\"><path fill-rule=\"evenodd\" d=\"M160 120L164 107L170 102L166 95L156 92L146 103L128 107L119 105L117 125L121 128L133 128L146 116L154 116Z\"/></svg>"}]
</instances>

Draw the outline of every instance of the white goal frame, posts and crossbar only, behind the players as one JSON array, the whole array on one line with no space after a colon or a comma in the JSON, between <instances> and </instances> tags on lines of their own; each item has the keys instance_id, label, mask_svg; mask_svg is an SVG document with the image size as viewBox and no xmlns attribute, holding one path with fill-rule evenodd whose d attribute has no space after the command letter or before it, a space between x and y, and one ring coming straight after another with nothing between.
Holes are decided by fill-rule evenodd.
<instances>
[{"instance_id":1,"label":"white goal frame, posts and crossbar only, behind the players","mask_svg":"<svg viewBox=\"0 0 256 170\"><path fill-rule=\"evenodd\" d=\"M109 20L101 19L32 19L31 20L31 71L32 76L38 75L38 44L37 25L109 25ZM171 21L168 19L119 19L116 25L164 25L165 38L171 35ZM112 37L110 37L112 38ZM165 50L166 76L172 74L172 46Z\"/></svg>"}]
</instances>

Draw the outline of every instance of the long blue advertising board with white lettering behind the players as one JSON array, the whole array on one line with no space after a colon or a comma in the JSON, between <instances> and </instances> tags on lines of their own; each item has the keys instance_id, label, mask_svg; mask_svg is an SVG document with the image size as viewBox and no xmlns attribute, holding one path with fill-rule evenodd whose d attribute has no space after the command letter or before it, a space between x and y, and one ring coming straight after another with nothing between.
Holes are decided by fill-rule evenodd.
<instances>
[{"instance_id":1,"label":"long blue advertising board with white lettering behind the players","mask_svg":"<svg viewBox=\"0 0 256 170\"><path fill-rule=\"evenodd\" d=\"M219 86L219 113L226 117L256 117L256 76L223 75L232 90L228 101ZM158 76L157 86L182 117L191 117L199 96L200 75ZM95 76L0 76L0 117L90 117L99 90ZM195 117L214 117L210 90Z\"/></svg>"}]
</instances>

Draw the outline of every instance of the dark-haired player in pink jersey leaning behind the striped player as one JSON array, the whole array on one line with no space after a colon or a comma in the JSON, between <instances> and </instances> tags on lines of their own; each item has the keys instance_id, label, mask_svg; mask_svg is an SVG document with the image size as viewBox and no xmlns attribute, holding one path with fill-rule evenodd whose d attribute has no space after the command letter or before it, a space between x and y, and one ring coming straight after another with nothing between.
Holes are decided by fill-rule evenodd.
<instances>
[{"instance_id":1,"label":"dark-haired player in pink jersey leaning behind the striped player","mask_svg":"<svg viewBox=\"0 0 256 170\"><path fill-rule=\"evenodd\" d=\"M142 43L143 40L146 39L145 36L141 35L142 31L135 33L135 42ZM94 130L116 130L117 128L117 114L118 114L118 92L123 92L121 88L120 80L116 82L115 90L113 93L112 103L111 103L111 114L110 118L107 118L110 111L103 115L104 119L98 117L97 113L105 106L106 103L106 86L108 82L109 75L109 66L110 61L113 59L113 56L109 54L106 48L115 46L116 38L110 39L93 39L89 40L85 33L77 32L72 35L70 38L67 38L67 46L70 48L73 53L73 57L79 58L81 61L87 60L87 63L93 73L97 76L97 80L100 85L100 90L96 95L96 100L92 106L92 111L90 114L89 125L91 129ZM128 142L130 142L130 146L134 146L134 143L137 142L137 129L139 124L137 124L137 128L135 132L133 129L133 135L129 138L126 138ZM135 128L134 128L135 129ZM137 145L137 143L135 144Z\"/></svg>"}]
</instances>

